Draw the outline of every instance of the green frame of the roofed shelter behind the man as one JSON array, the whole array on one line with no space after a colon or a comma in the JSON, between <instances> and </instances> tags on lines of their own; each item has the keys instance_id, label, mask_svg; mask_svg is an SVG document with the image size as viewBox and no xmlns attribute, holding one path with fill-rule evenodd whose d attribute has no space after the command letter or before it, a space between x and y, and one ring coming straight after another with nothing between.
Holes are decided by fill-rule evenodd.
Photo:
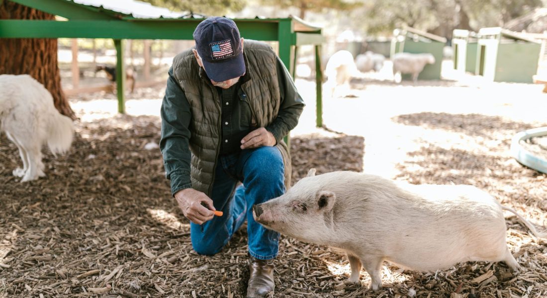
<instances>
[{"instance_id":1,"label":"green frame of the roofed shelter behind the man","mask_svg":"<svg viewBox=\"0 0 547 298\"><path fill-rule=\"evenodd\" d=\"M67 0L10 0L66 21L0 20L0 38L112 38L117 51L118 111L125 113L123 39L193 39L197 24L203 19L140 19L103 7L93 7ZM321 28L298 17L281 19L235 19L241 36L247 39L277 41L281 61L295 74L297 48L315 45L316 65L320 66ZM291 60L293 57L294 60ZM322 69L316 67L317 126L322 125Z\"/></svg>"}]
</instances>

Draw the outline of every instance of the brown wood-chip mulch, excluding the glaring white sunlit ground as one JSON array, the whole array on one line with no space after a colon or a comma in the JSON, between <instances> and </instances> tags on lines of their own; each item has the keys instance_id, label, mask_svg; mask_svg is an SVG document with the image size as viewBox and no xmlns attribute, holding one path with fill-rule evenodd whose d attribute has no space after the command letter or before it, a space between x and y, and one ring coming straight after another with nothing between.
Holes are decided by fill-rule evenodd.
<instances>
[{"instance_id":1,"label":"brown wood-chip mulch, excluding the glaring white sunlit ground","mask_svg":"<svg viewBox=\"0 0 547 298\"><path fill-rule=\"evenodd\" d=\"M462 136L452 143L424 137L421 149L400 163L397 179L473 184L539 230L547 225L547 175L507 154L522 124L444 113L393 121ZM193 252L188 220L170 196L160 150L151 145L159 133L155 116L77 122L71 151L54 157L44 150L46 177L28 183L11 175L19 154L0 136L0 297L245 296L245 229L217 255ZM293 137L291 149L294 182L311 167L318 174L362 171L366 153L363 137L336 132ZM508 246L522 272L487 262L428 273L386 263L380 291L367 289L364 271L360 286L345 283L350 267L334 249L282 236L273 296L546 297L547 240L530 236L514 216L507 225Z\"/></svg>"}]
</instances>

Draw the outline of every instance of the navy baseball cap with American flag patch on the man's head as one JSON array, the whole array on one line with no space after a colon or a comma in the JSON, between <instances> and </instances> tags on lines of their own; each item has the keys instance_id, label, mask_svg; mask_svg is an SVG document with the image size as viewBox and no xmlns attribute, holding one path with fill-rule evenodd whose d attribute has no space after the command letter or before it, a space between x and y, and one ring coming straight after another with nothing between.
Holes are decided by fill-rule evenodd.
<instances>
[{"instance_id":1,"label":"navy baseball cap with American flag patch on the man's head","mask_svg":"<svg viewBox=\"0 0 547 298\"><path fill-rule=\"evenodd\" d=\"M208 17L197 25L194 40L210 79L221 82L245 74L243 46L234 21L222 16Z\"/></svg>"}]
</instances>

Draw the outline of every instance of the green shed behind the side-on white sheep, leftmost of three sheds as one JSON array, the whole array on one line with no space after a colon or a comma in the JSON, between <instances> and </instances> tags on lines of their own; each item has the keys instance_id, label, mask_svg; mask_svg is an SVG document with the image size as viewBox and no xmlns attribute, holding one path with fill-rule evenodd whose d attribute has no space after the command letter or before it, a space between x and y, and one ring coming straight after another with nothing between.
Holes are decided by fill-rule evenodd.
<instances>
[{"instance_id":1,"label":"green shed behind the side-on white sheep, leftmost of three sheds","mask_svg":"<svg viewBox=\"0 0 547 298\"><path fill-rule=\"evenodd\" d=\"M443 48L446 38L412 27L393 30L391 40L390 57L398 52L413 54L430 53L435 57L435 63L426 65L418 76L421 80L438 80L441 78L441 65L443 64ZM403 79L409 79L410 75L403 75Z\"/></svg>"}]
</instances>

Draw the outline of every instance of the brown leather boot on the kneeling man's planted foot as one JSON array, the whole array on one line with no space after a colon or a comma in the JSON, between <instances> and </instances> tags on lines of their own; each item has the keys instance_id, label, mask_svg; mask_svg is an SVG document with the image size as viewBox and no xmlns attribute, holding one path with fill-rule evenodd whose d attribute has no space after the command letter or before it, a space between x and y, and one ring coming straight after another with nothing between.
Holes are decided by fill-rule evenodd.
<instances>
[{"instance_id":1,"label":"brown leather boot on the kneeling man's planted foot","mask_svg":"<svg viewBox=\"0 0 547 298\"><path fill-rule=\"evenodd\" d=\"M259 260L251 257L249 271L247 298L265 297L274 291L274 259Z\"/></svg>"}]
</instances>

